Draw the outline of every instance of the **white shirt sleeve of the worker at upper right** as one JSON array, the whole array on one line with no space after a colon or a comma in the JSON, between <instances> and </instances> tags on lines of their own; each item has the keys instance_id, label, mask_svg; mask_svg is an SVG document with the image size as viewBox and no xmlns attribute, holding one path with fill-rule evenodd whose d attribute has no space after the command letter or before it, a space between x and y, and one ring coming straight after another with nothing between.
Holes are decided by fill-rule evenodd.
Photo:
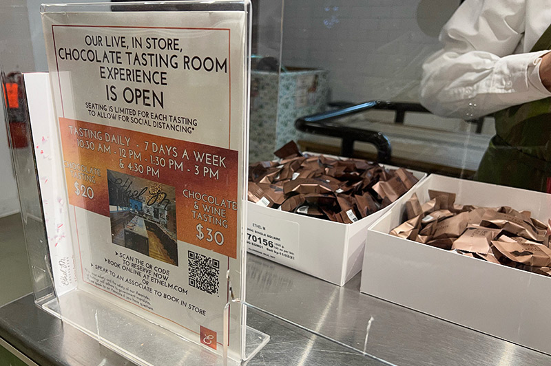
<instances>
[{"instance_id":1,"label":"white shirt sleeve of the worker at upper right","mask_svg":"<svg viewBox=\"0 0 551 366\"><path fill-rule=\"evenodd\" d=\"M467 0L446 23L444 49L423 65L421 103L434 114L477 118L551 96L539 79L547 50L512 54L523 39L524 0Z\"/></svg>"}]
</instances>

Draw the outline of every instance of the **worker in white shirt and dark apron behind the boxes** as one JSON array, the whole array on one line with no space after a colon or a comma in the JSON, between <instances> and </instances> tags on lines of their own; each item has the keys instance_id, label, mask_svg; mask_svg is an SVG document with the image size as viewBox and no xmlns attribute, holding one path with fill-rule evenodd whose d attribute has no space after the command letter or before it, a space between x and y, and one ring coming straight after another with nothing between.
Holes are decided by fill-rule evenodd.
<instances>
[{"instance_id":1,"label":"worker in white shirt and dark apron behind the boxes","mask_svg":"<svg viewBox=\"0 0 551 366\"><path fill-rule=\"evenodd\" d=\"M434 114L495 116L478 180L551 192L550 25L551 0L466 0L423 65Z\"/></svg>"}]
</instances>

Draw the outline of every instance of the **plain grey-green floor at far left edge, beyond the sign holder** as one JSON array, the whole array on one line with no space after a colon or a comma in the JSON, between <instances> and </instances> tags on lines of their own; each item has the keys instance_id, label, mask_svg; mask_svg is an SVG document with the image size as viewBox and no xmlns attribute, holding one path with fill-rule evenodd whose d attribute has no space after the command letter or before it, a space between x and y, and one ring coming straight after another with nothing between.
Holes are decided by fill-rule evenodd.
<instances>
[{"instance_id":1,"label":"plain grey-green floor at far left edge, beyond the sign holder","mask_svg":"<svg viewBox=\"0 0 551 366\"><path fill-rule=\"evenodd\" d=\"M19 213L0 219L0 305L32 292Z\"/></svg>"}]
</instances>

